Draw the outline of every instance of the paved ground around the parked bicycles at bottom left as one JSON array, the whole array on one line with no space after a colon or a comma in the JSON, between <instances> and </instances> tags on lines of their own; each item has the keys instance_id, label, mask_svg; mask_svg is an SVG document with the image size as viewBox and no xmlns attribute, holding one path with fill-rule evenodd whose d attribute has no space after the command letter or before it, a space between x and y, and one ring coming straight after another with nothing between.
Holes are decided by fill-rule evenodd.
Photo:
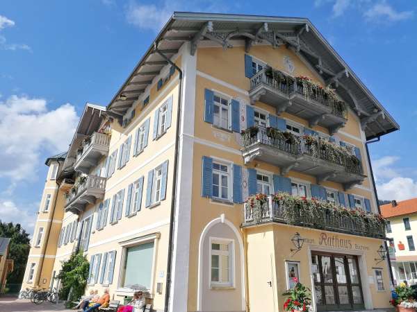
<instances>
[{"instance_id":1,"label":"paved ground around the parked bicycles at bottom left","mask_svg":"<svg viewBox=\"0 0 417 312\"><path fill-rule=\"evenodd\" d=\"M0 297L0 312L74 312L73 310L65 309L62 303L51 304L51 302L44 302L42 304L33 304L31 300L17 299L16 297Z\"/></svg>"}]
</instances>

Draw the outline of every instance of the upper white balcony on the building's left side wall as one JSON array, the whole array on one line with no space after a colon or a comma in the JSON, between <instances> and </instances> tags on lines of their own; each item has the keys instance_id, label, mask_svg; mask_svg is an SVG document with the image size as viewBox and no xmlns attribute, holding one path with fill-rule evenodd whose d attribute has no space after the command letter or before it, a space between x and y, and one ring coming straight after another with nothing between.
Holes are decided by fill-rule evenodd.
<instances>
[{"instance_id":1,"label":"upper white balcony on the building's left side wall","mask_svg":"<svg viewBox=\"0 0 417 312\"><path fill-rule=\"evenodd\" d=\"M101 157L108 155L109 144L110 136L104 133L94 132L91 137L85 139L76 155L75 171L88 173L90 168L97 165Z\"/></svg>"}]
</instances>

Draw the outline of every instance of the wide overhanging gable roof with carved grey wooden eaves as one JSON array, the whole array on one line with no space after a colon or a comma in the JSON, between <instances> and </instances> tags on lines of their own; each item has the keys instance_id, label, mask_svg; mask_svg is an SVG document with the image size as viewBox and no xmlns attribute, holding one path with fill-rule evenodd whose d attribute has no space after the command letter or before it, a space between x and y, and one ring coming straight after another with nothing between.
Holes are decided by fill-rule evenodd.
<instances>
[{"instance_id":1,"label":"wide overhanging gable roof with carved grey wooden eaves","mask_svg":"<svg viewBox=\"0 0 417 312\"><path fill-rule=\"evenodd\" d=\"M326 84L332 85L357 112L366 139L400 128L311 21L296 17L174 12L107 109L122 116L145 92L147 85L152 84L152 80L168 64L158 51L171 58L187 41L191 42L191 53L194 53L197 44L202 41L215 42L224 49L230 49L235 40L245 40L247 51L252 45L268 43L272 46L286 45L302 56Z\"/></svg>"}]
</instances>

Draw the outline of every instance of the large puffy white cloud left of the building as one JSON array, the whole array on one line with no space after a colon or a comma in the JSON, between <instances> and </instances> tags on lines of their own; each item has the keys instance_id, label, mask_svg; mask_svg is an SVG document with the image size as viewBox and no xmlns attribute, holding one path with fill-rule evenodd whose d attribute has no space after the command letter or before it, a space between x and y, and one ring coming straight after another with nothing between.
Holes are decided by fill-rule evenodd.
<instances>
[{"instance_id":1,"label":"large puffy white cloud left of the building","mask_svg":"<svg viewBox=\"0 0 417 312\"><path fill-rule=\"evenodd\" d=\"M16 95L0 101L0 114L0 177L12 184L33 180L42 153L67 150L78 121L68 103L48 110L44 98Z\"/></svg>"}]
</instances>

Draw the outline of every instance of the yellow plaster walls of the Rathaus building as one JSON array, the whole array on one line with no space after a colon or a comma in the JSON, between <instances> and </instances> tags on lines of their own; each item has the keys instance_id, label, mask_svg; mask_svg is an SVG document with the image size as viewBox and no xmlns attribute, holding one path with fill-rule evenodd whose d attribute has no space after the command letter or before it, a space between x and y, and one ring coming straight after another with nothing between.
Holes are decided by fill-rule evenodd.
<instances>
[{"instance_id":1,"label":"yellow plaster walls of the Rathaus building","mask_svg":"<svg viewBox=\"0 0 417 312\"><path fill-rule=\"evenodd\" d=\"M269 44L258 44L252 46L249 53L253 58L281 71L286 71L284 60L290 58L294 67L293 76L308 76L315 83L325 85L318 71L285 45L272 49ZM51 193L54 202L51 207L54 209L49 209L46 213L42 212L44 207L42 200L35 238L37 230L44 227L44 237L47 235L48 239L43 239L39 247L31 248L23 287L31 285L40 288L50 285L59 287L58 281L51 281L51 278L58 274L60 261L68 259L70 254L77 250L77 246L83 240L84 221L92 216L92 226L88 230L88 248L81 251L91 262L92 270L96 267L92 259L95 258L97 261L97 255L101 259L101 264L95 271L99 276L95 277L96 281L91 277L92 280L90 279L85 291L98 289L101 293L104 288L109 288L111 297L122 301L125 296L133 293L133 287L126 286L125 281L129 279L126 272L136 276L139 271L142 276L149 275L148 302L153 304L156 311L162 311L165 309L167 295L165 286L167 275L170 273L170 311L283 311L284 297L281 294L288 288L288 263L297 263L300 281L311 288L315 296L317 291L313 286L311 257L314 252L319 252L334 254L333 257L342 254L343 257L352 257L357 261L363 298L362 309L389 307L389 268L385 261L377 261L377 250L383 243L381 239L289 226L272 221L246 227L242 202L202 196L204 157L227 164L230 171L235 168L234 166L238 166L236 168L241 168L243 172L247 169L255 169L256 172L270 176L281 175L283 172L276 164L259 159L245 164L240 133L204 121L206 90L211 90L229 100L236 99L242 109L251 105L250 80L245 77L245 54L247 53L243 42L235 44L233 49L201 45L198 46L195 55L190 53L190 44L184 43L177 55L172 58L182 71L182 79L178 71L175 71L162 87L158 86L159 79L167 77L170 70L170 66L163 67L161 74L152 80L143 94L133 101L132 107L129 107L126 115L130 114L132 109L135 113L128 125L122 127L114 114L106 114L105 110L103 111L99 126L93 131L104 133L103 130L108 129L110 132L107 157L95 159L95 166L89 168L88 174L95 175L100 169L102 173L103 168L108 166L108 156L120 150L120 146L131 137L129 161L122 168L117 168L116 165L114 173L106 178L104 195L101 198L97 197L94 202L85 204L77 214L74 210L66 209L71 206L65 201L64 193L67 189L62 185L58 187L55 180L47 180L43 198L46 198L47 193ZM148 95L150 101L143 105L143 100ZM153 139L154 123L158 123L156 114L161 114L161 107L170 101L170 98L172 99L170 127L165 129L165 134ZM267 115L277 114L275 107L261 101L256 101L251 106ZM111 107L107 107L107 110L111 111ZM180 120L177 119L178 112L181 116ZM81 121L83 119L88 121L88 118L90 117L85 114ZM279 118L300 125L301 128L309 128L309 121L296 114L282 112ZM133 142L138 136L137 130L148 119L150 126L147 146L141 153L134 155L132 150ZM177 123L179 123L178 136ZM244 130L243 124L245 122L240 120L240 130ZM322 135L329 135L327 128L319 125L312 128ZM377 213L372 173L365 148L366 136L357 112L351 108L348 110L345 125L333 137L359 148L363 175L366 177L361 184L353 185L347 190L343 184L327 180L321 181L320 186L336 193L345 192L346 195L359 198L363 209L366 208L363 200L367 199L370 202L370 211ZM76 146L79 141L74 142L77 142L76 139L72 143L74 146L70 147L70 152L72 148L79 147ZM117 159L119 157L120 155ZM67 156L65 162L68 162L68 158ZM176 160L177 172L174 167ZM148 173L156 172L154 169L165 162L167 162L166 196L163 200L158 200L155 205L145 207L147 193L152 193L152 196L155 194L154 189L147 189ZM74 167L70 164L71 166ZM291 168L282 175L309 188L311 184L318 184L316 175L301 173L297 168ZM135 214L125 216L129 185L142 177L141 209ZM230 175L228 178L232 179ZM174 180L177 182L177 189L173 189ZM243 179L242 185L238 187L247 196L246 184L247 181ZM233 191L231 184L227 184L227 187L227 191L231 193ZM120 190L125 190L122 215L111 223L112 202ZM176 198L172 198L173 191ZM311 191L306 191L306 196L310 197ZM230 195L228 198L231 199ZM106 200L111 202L108 207L108 220L104 227L98 228L99 207ZM172 201L175 201L174 205ZM172 207L175 207L174 211ZM79 225L74 234L75 238L70 233L67 240L65 237L63 239L61 228L70 227L74 223ZM172 244L170 244L170 230L172 230ZM305 241L300 250L293 252L291 239L296 232ZM324 237L336 237L336 239L327 242ZM332 245L335 240L349 243ZM149 243L153 243L153 253L147 254L146 257L152 256L152 263L147 272L142 272L141 268L131 266L129 259L133 259L134 253L130 252ZM170 248L171 259L168 257ZM102 274L104 280L109 274L103 266L103 261L104 257L109 257L107 253L113 251L115 252L114 268L111 273L113 281L106 283L101 281ZM145 254L141 255L145 257ZM40 261L42 261L42 270L38 269ZM172 261L171 272L167 272L168 261ZM218 266L215 264L216 261L220 263ZM225 265L226 262L222 261L228 264ZM31 275L31 263L35 263L35 270L33 279L28 280L28 275ZM377 288L375 270L382 271L383 289ZM138 275L138 279L140 278ZM316 304L316 301L317 298L313 300L313 304Z\"/></svg>"}]
</instances>

